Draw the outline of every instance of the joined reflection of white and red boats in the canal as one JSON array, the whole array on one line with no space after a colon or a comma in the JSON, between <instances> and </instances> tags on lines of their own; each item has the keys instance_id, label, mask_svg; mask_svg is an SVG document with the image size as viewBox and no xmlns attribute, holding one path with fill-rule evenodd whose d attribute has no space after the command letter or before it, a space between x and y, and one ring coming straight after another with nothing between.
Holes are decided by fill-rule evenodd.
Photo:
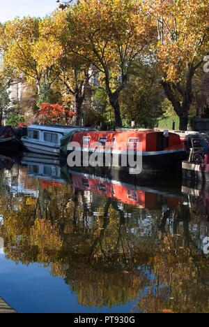
<instances>
[{"instance_id":1,"label":"joined reflection of white and red boats in the canal","mask_svg":"<svg viewBox=\"0 0 209 327\"><path fill-rule=\"evenodd\" d=\"M162 203L172 208L182 202L180 187L167 189L162 187L162 184L158 187L139 184L129 175L114 172L111 175L109 172L107 175L95 175L68 170L66 166L61 167L59 160L54 157L27 153L22 157L22 165L27 167L30 177L47 180L52 184L68 182L76 190L90 191L138 208L162 208Z\"/></svg>"}]
</instances>

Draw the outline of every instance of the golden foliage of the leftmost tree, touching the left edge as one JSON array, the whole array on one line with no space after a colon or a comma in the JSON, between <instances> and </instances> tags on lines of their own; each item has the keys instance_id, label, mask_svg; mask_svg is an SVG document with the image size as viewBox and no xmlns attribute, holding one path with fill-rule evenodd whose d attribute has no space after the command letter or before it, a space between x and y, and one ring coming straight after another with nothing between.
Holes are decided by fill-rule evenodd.
<instances>
[{"instance_id":1,"label":"golden foliage of the leftmost tree, touching the left edge","mask_svg":"<svg viewBox=\"0 0 209 327\"><path fill-rule=\"evenodd\" d=\"M56 76L52 67L42 68L36 60L36 47L39 41L40 19L35 17L16 18L1 26L0 46L3 51L4 66L13 71L14 78L26 78L35 82L38 95L42 84L47 80L50 89Z\"/></svg>"}]
</instances>

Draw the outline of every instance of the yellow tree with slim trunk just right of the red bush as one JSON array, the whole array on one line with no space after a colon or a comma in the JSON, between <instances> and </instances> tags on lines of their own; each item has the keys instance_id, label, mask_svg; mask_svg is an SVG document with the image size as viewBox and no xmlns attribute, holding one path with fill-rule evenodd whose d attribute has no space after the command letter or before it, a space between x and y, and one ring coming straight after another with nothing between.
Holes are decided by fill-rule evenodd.
<instances>
[{"instance_id":1,"label":"yellow tree with slim trunk just right of the red bush","mask_svg":"<svg viewBox=\"0 0 209 327\"><path fill-rule=\"evenodd\" d=\"M82 124L82 105L86 87L93 75L88 61L68 47L68 12L57 10L40 24L40 40L36 47L40 66L53 66L62 94L69 94L74 103L75 124Z\"/></svg>"}]
</instances>

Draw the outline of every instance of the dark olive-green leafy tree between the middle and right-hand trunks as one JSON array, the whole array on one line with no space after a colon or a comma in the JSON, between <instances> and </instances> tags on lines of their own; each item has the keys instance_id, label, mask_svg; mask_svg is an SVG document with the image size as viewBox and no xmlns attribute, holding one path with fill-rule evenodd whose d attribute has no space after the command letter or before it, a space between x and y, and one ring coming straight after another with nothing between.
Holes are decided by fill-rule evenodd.
<instances>
[{"instance_id":1,"label":"dark olive-green leafy tree between the middle and right-hand trunks","mask_svg":"<svg viewBox=\"0 0 209 327\"><path fill-rule=\"evenodd\" d=\"M134 121L135 126L153 128L162 115L164 97L158 73L155 62L134 61L132 75L120 96L121 112L128 126Z\"/></svg>"}]
</instances>

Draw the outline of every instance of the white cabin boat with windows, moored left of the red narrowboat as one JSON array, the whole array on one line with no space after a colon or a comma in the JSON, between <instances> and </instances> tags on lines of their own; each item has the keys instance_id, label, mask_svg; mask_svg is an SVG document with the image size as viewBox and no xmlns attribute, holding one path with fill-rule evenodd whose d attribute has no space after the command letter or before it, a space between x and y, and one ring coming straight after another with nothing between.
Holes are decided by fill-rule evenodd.
<instances>
[{"instance_id":1,"label":"white cabin boat with windows, moored left of the red narrowboat","mask_svg":"<svg viewBox=\"0 0 209 327\"><path fill-rule=\"evenodd\" d=\"M29 152L46 154L59 157L61 149L61 139L72 131L88 131L86 127L79 126L54 126L36 125L28 127L27 136L22 137L22 143Z\"/></svg>"}]
</instances>

